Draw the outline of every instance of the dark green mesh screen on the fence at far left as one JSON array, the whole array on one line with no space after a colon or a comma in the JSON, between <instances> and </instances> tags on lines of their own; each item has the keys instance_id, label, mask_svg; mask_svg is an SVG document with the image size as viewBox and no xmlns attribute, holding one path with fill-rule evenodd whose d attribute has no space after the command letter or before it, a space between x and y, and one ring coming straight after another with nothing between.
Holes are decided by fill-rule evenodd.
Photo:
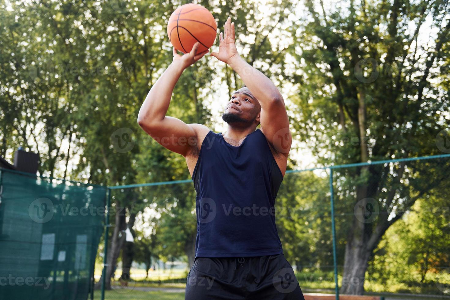
<instances>
[{"instance_id":1,"label":"dark green mesh screen on the fence at far left","mask_svg":"<svg viewBox=\"0 0 450 300\"><path fill-rule=\"evenodd\" d=\"M107 188L0 176L0 299L87 299Z\"/></svg>"}]
</instances>

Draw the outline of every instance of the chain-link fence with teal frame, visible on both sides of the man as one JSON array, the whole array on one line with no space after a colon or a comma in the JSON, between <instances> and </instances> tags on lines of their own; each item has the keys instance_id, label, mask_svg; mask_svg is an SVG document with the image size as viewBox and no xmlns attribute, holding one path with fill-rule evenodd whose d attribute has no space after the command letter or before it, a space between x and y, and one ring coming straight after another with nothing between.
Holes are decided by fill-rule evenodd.
<instances>
[{"instance_id":1,"label":"chain-link fence with teal frame, visible on both sides of the man","mask_svg":"<svg viewBox=\"0 0 450 300\"><path fill-rule=\"evenodd\" d=\"M450 155L288 170L275 217L302 290L450 296L449 184ZM184 299L192 180L110 188L107 244L119 263L105 298Z\"/></svg>"}]
</instances>

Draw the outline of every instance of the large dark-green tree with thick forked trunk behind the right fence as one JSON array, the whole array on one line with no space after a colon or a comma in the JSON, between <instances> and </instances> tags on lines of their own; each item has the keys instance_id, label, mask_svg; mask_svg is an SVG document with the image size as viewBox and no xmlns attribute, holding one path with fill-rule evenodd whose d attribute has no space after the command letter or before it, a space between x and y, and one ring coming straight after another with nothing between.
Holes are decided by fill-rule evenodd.
<instances>
[{"instance_id":1,"label":"large dark-green tree with thick forked trunk behind the right fence","mask_svg":"<svg viewBox=\"0 0 450 300\"><path fill-rule=\"evenodd\" d=\"M439 154L449 125L447 1L306 0L292 27L298 82L295 125L318 162L355 163ZM425 23L426 18L431 24ZM437 31L430 45L421 32ZM437 84L436 84L437 83ZM449 162L398 163L337 170L337 202L353 211L377 201L376 221L347 219L341 292L363 294L368 261L386 230L447 179ZM401 199L401 201L399 201ZM362 201L362 202L358 202ZM397 213L396 213L397 212ZM357 284L349 284L357 279Z\"/></svg>"}]
</instances>

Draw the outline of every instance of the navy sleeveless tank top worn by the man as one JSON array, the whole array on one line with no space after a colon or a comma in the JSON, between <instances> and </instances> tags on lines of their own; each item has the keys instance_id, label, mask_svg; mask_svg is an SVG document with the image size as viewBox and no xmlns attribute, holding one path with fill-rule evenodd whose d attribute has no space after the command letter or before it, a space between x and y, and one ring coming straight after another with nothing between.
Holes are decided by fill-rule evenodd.
<instances>
[{"instance_id":1,"label":"navy sleeveless tank top worn by the man","mask_svg":"<svg viewBox=\"0 0 450 300\"><path fill-rule=\"evenodd\" d=\"M192 174L197 210L195 257L282 254L275 197L283 175L257 129L236 147L206 135Z\"/></svg>"}]
</instances>

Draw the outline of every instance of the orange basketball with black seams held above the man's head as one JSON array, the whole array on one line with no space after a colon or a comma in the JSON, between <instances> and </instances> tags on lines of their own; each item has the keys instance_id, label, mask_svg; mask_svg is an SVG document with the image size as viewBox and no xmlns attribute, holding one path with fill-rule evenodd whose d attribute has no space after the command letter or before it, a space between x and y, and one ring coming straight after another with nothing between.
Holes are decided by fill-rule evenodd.
<instances>
[{"instance_id":1,"label":"orange basketball with black seams held above the man's head","mask_svg":"<svg viewBox=\"0 0 450 300\"><path fill-rule=\"evenodd\" d=\"M171 14L167 22L167 35L175 49L188 53L200 42L197 54L207 52L214 44L217 24L212 14L199 4L184 4Z\"/></svg>"}]
</instances>

